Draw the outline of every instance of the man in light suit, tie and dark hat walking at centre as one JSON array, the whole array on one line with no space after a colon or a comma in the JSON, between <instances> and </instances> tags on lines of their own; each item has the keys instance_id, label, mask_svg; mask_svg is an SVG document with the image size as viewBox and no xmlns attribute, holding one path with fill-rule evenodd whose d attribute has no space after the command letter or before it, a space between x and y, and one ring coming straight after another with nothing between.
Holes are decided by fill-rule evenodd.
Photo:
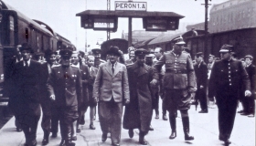
<instances>
[{"instance_id":1,"label":"man in light suit, tie and dark hat walking at centre","mask_svg":"<svg viewBox=\"0 0 256 146\"><path fill-rule=\"evenodd\" d=\"M120 57L118 47L110 47L107 55L110 60L99 67L93 86L93 98L99 101L101 141L106 141L110 128L112 145L119 146L123 101L125 104L130 102L127 69L117 62Z\"/></svg>"}]
</instances>

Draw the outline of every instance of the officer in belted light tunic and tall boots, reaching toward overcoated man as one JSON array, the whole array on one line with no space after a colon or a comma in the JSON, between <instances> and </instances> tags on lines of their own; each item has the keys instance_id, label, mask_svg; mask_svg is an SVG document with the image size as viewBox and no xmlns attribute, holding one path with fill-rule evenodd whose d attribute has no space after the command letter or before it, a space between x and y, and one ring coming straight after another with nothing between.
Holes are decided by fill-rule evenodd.
<instances>
[{"instance_id":1,"label":"officer in belted light tunic and tall boots, reaching toward overcoated man","mask_svg":"<svg viewBox=\"0 0 256 146\"><path fill-rule=\"evenodd\" d=\"M185 42L182 37L175 40L174 49L165 53L153 66L158 73L165 64L165 75L163 78L163 86L165 88L165 107L169 111L169 120L172 133L169 139L176 138L176 116L177 110L180 110L183 130L185 133L185 141L194 140L189 135L189 118L187 110L190 108L191 92L196 89L195 71L192 59L189 54L183 52ZM158 73L152 84L156 84Z\"/></svg>"}]
</instances>

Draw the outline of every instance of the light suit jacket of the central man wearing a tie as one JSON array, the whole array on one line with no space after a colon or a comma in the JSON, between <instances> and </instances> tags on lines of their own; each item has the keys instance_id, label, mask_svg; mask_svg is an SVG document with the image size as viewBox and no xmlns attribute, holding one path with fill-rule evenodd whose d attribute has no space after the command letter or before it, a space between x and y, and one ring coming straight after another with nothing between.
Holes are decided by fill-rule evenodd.
<instances>
[{"instance_id":1,"label":"light suit jacket of the central man wearing a tie","mask_svg":"<svg viewBox=\"0 0 256 146\"><path fill-rule=\"evenodd\" d=\"M110 62L101 64L93 85L93 97L100 101L113 98L115 102L123 102L123 98L130 99L126 67L116 62L112 74Z\"/></svg>"}]
</instances>

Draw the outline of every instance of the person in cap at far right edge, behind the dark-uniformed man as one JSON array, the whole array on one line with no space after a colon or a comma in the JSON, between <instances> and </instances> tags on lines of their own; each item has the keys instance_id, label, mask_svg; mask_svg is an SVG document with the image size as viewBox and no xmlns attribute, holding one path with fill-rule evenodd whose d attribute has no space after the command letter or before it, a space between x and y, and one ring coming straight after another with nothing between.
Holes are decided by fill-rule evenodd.
<instances>
[{"instance_id":1,"label":"person in cap at far right edge, behind the dark-uniformed man","mask_svg":"<svg viewBox=\"0 0 256 146\"><path fill-rule=\"evenodd\" d=\"M241 113L241 115L245 115L248 117L254 117L255 114L255 101L254 101L254 96L255 96L255 66L251 64L253 57L251 55L247 55L244 57L245 63L246 63L246 71L248 73L248 76L250 78L251 82L251 97L243 97L244 101L244 110Z\"/></svg>"}]
</instances>

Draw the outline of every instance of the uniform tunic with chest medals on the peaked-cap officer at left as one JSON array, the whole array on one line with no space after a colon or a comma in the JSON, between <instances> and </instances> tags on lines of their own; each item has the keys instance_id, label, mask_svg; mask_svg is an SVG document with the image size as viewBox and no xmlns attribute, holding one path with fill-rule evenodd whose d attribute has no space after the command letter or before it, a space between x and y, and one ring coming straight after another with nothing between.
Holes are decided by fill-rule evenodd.
<instances>
[{"instance_id":1,"label":"uniform tunic with chest medals on the peaked-cap officer at left","mask_svg":"<svg viewBox=\"0 0 256 146\"><path fill-rule=\"evenodd\" d=\"M55 66L48 78L48 93L55 95L58 107L78 110L82 103L82 85L80 69L69 66Z\"/></svg>"}]
</instances>

